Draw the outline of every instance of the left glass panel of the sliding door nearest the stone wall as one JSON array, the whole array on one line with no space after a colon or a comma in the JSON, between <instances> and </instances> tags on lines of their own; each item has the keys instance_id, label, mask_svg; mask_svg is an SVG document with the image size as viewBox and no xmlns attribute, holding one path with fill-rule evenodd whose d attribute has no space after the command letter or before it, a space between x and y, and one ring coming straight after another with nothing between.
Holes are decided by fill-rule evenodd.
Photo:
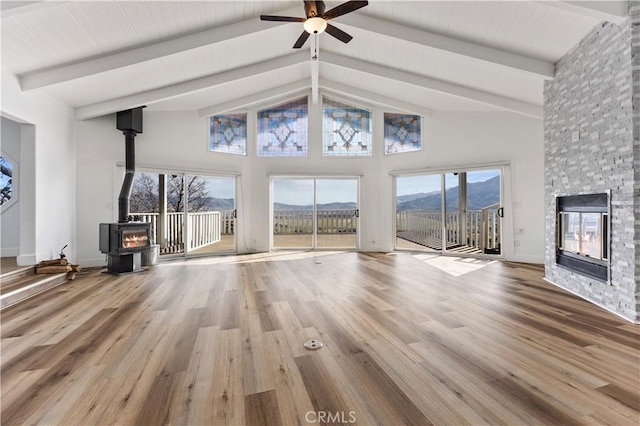
<instances>
[{"instance_id":1,"label":"left glass panel of the sliding door nearest the stone wall","mask_svg":"<svg viewBox=\"0 0 640 426\"><path fill-rule=\"evenodd\" d=\"M396 178L396 247L442 249L442 176Z\"/></svg>"}]
</instances>

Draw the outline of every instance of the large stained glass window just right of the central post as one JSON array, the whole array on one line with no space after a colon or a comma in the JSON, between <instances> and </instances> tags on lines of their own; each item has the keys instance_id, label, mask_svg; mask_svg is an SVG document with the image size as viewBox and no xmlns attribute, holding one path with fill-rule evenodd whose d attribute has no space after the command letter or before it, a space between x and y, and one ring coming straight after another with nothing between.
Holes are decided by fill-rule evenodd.
<instances>
[{"instance_id":1,"label":"large stained glass window just right of the central post","mask_svg":"<svg viewBox=\"0 0 640 426\"><path fill-rule=\"evenodd\" d=\"M371 111L323 98L322 118L324 155L372 155Z\"/></svg>"}]
</instances>

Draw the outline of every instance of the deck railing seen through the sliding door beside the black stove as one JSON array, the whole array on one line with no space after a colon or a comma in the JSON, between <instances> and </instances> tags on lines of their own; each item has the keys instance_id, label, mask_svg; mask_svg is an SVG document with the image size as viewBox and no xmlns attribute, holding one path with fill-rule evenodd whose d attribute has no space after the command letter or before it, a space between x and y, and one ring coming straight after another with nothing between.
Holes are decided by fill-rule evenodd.
<instances>
[{"instance_id":1,"label":"deck railing seen through the sliding door beside the black stove","mask_svg":"<svg viewBox=\"0 0 640 426\"><path fill-rule=\"evenodd\" d=\"M151 223L151 235L160 244L161 253L184 251L184 212L170 212L166 216L166 239L158 233L160 213L132 213L141 222ZM235 219L232 210L189 213L189 250L219 242L222 235L233 234Z\"/></svg>"}]
</instances>

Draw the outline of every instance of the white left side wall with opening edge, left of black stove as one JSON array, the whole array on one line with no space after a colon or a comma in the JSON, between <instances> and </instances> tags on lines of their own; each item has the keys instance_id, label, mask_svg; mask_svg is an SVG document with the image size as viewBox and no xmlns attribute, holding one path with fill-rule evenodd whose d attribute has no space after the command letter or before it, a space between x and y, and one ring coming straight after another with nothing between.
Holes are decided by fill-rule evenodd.
<instances>
[{"instance_id":1,"label":"white left side wall with opening edge, left of black stove","mask_svg":"<svg viewBox=\"0 0 640 426\"><path fill-rule=\"evenodd\" d=\"M21 92L2 69L3 117L21 123L20 256L33 264L56 257L65 244L76 253L76 157L73 112L37 90Z\"/></svg>"}]
</instances>

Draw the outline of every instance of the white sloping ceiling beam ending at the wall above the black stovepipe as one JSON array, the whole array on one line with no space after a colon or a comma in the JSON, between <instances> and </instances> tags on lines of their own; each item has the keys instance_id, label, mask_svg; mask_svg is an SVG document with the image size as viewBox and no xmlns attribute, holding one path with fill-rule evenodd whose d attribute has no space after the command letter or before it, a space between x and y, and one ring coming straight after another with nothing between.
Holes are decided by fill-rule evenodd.
<instances>
[{"instance_id":1,"label":"white sloping ceiling beam ending at the wall above the black stovepipe","mask_svg":"<svg viewBox=\"0 0 640 426\"><path fill-rule=\"evenodd\" d=\"M150 105L163 100L184 96L189 93L199 92L225 83L258 76L272 71L285 70L300 64L305 64L308 61L309 56L307 52L298 52L206 77L196 78L194 80L176 83L158 89L147 90L145 92L135 93L129 96L123 96L92 105L78 107L75 109L75 117L78 120L86 120L129 108L135 108L140 105Z\"/></svg>"}]
</instances>

